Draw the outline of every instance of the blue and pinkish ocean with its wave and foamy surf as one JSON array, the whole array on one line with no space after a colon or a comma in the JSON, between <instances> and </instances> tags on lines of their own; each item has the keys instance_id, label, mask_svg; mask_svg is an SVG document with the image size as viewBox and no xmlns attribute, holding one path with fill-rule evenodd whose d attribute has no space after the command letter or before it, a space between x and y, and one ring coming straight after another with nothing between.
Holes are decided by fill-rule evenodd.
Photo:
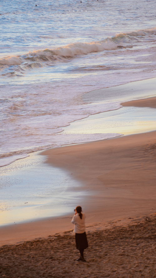
<instances>
[{"instance_id":1,"label":"blue and pinkish ocean with its wave and foamy surf","mask_svg":"<svg viewBox=\"0 0 156 278\"><path fill-rule=\"evenodd\" d=\"M141 96L110 90L103 101L89 101L86 93L156 77L156 2L81 2L1 0L0 166L34 151L121 135L64 129Z\"/></svg>"}]
</instances>

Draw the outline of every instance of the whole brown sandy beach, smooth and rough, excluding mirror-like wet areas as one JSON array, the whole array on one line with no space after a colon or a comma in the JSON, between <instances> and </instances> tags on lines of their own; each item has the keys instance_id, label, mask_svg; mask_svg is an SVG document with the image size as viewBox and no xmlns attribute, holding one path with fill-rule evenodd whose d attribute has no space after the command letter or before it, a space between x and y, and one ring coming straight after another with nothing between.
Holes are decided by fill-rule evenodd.
<instances>
[{"instance_id":1,"label":"whole brown sandy beach, smooth and rough, excluding mirror-like wet areas","mask_svg":"<svg viewBox=\"0 0 156 278\"><path fill-rule=\"evenodd\" d=\"M43 151L45 164L80 182L75 195L85 198L75 205L87 216L86 262L76 262L71 213L1 227L2 277L155 278L155 138L152 131Z\"/></svg>"}]
</instances>

